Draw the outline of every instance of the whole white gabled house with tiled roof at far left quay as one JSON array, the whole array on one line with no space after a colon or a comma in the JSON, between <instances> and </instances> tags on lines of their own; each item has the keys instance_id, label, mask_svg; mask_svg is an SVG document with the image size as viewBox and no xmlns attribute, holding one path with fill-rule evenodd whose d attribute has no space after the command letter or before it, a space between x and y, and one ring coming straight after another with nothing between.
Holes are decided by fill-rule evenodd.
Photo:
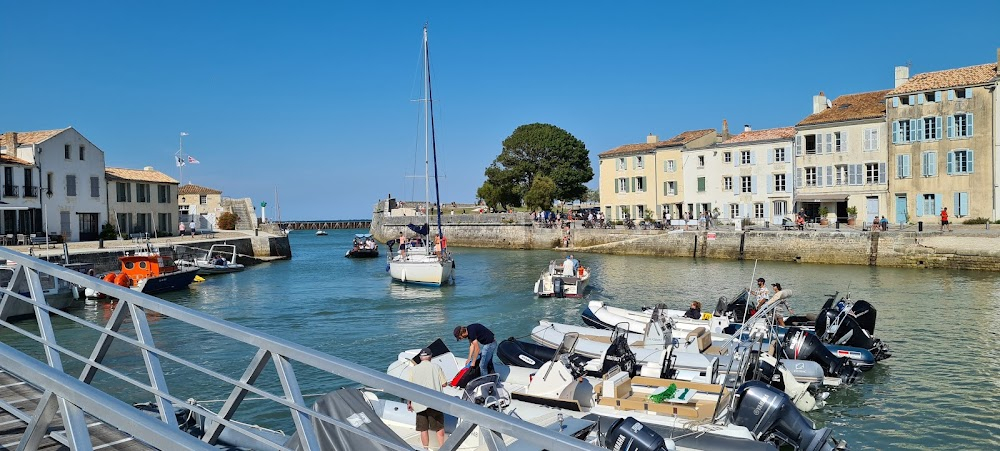
<instances>
[{"instance_id":1,"label":"whole white gabled house with tiled roof at far left quay","mask_svg":"<svg viewBox=\"0 0 1000 451\"><path fill-rule=\"evenodd\" d=\"M16 159L4 160L4 193L10 194L4 201L10 203L8 197L17 197L29 208L19 210L13 224L5 212L5 226L58 234L69 241L97 239L107 221L104 152L100 148L68 127L5 133L0 153ZM37 213L32 212L34 208Z\"/></svg>"}]
</instances>

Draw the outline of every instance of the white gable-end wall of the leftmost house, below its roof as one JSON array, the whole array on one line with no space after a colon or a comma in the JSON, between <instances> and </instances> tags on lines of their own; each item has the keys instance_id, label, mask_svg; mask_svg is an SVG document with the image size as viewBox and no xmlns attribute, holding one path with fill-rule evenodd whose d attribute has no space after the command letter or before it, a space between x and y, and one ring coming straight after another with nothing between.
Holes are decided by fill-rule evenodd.
<instances>
[{"instance_id":1,"label":"white gable-end wall of the leftmost house, below its roof","mask_svg":"<svg viewBox=\"0 0 1000 451\"><path fill-rule=\"evenodd\" d=\"M41 144L19 147L17 153L18 158L32 162L38 169L37 178L27 187L29 192L24 192L26 183L22 181L21 195L37 196L42 208L43 228L48 233L78 241L80 214L97 214L100 231L100 225L107 222L104 151L69 128ZM93 191L92 178L97 180Z\"/></svg>"}]
</instances>

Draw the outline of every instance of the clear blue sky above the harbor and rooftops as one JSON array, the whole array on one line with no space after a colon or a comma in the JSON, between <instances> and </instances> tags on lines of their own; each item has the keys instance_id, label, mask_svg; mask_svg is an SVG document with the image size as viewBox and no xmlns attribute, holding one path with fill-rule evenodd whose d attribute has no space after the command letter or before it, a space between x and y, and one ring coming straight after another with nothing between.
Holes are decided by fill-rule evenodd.
<instances>
[{"instance_id":1,"label":"clear blue sky above the harbor and rooftops","mask_svg":"<svg viewBox=\"0 0 1000 451\"><path fill-rule=\"evenodd\" d=\"M597 154L684 130L794 125L812 96L996 61L995 1L8 2L0 130L76 127L109 166L267 201L283 219L423 197L429 23L442 201L472 202L519 125ZM16 25L16 26L15 26ZM12 27L12 28L11 28ZM418 155L420 158L418 158Z\"/></svg>"}]
</instances>

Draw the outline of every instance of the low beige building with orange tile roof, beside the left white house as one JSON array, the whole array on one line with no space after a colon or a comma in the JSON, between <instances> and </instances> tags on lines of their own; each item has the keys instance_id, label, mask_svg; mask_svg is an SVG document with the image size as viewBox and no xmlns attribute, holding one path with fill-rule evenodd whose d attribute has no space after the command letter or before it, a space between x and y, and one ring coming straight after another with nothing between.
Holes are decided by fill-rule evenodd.
<instances>
[{"instance_id":1,"label":"low beige building with orange tile roof, beside the left white house","mask_svg":"<svg viewBox=\"0 0 1000 451\"><path fill-rule=\"evenodd\" d=\"M122 235L176 234L177 180L150 166L106 168L108 217Z\"/></svg>"}]
</instances>

